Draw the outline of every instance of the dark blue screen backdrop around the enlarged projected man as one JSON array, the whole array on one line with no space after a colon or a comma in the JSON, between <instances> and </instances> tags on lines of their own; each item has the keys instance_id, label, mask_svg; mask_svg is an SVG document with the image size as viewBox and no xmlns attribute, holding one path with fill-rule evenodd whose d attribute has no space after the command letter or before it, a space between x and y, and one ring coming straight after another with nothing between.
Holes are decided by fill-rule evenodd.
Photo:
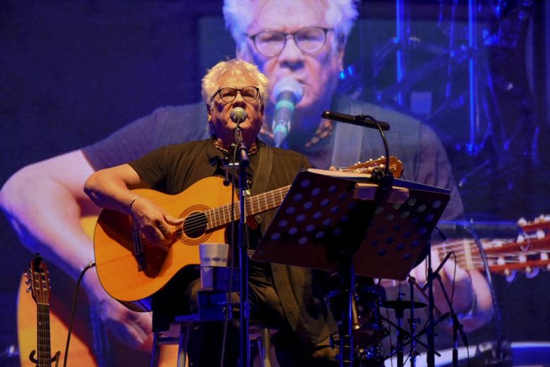
<instances>
[{"instance_id":1,"label":"dark blue screen backdrop around the enlarged projected man","mask_svg":"<svg viewBox=\"0 0 550 367\"><path fill-rule=\"evenodd\" d=\"M0 184L27 164L93 143L157 107L198 102L205 70L234 56L221 3L2 1ZM348 42L341 88L415 114L439 133L469 218L515 222L548 213L549 7L546 1L530 6L525 6L530 1L478 1L475 58L482 88L472 135L468 53L460 52L460 44L468 42L468 1L458 1L453 22L457 57L463 59L455 61L450 75L446 64L418 71L448 50L452 3L405 1L415 37L407 49L407 73L418 79L402 90L405 102L398 104L389 91L396 85L396 47L389 42L395 36L395 4L363 1ZM507 7L498 13L497 3ZM447 83L453 90L448 99ZM1 353L17 344L16 296L32 254L4 217L0 234ZM495 276L495 283L505 336L550 341L549 274L543 271L533 279L518 275L511 283ZM492 333L489 327L478 339L494 339ZM16 365L16 360L4 361Z\"/></svg>"}]
</instances>

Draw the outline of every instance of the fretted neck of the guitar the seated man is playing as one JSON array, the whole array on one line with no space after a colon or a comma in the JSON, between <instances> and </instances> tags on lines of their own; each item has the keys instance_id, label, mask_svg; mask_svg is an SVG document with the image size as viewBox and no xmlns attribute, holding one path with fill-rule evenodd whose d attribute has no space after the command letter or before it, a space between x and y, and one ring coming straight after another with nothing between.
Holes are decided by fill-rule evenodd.
<instances>
[{"instance_id":1,"label":"fretted neck of the guitar the seated man is playing","mask_svg":"<svg viewBox=\"0 0 550 367\"><path fill-rule=\"evenodd\" d=\"M251 196L246 200L246 216L252 217L262 212L267 212L267 210L274 209L279 207L281 203L290 190L291 186L283 186L281 188L276 188L275 190L268 191L267 193L261 193L259 195ZM234 216L231 216L231 207L234 207ZM240 206L238 202L235 205L227 204L222 205L221 207L215 207L204 212L208 219L208 229L215 229L223 227L229 223L231 220L240 219Z\"/></svg>"}]
</instances>

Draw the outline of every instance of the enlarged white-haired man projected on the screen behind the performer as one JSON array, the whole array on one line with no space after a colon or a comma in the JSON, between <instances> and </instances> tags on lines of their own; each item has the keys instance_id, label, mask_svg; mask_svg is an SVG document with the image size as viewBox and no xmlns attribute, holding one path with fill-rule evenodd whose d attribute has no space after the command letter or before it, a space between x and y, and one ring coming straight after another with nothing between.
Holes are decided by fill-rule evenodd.
<instances>
[{"instance_id":1,"label":"enlarged white-haired man projected on the screen behind the performer","mask_svg":"<svg viewBox=\"0 0 550 367\"><path fill-rule=\"evenodd\" d=\"M348 165L379 156L383 150L378 136L373 131L357 133L324 121L319 117L321 112L331 108L390 121L387 138L392 154L405 164L407 178L451 188L451 203L444 218L463 215L446 152L432 130L408 116L335 94L346 39L357 18L355 1L226 0L224 16L236 40L238 57L257 64L272 86L282 78L293 78L302 85L304 95L295 107L287 148L301 152L314 167ZM309 37L313 42L307 42ZM265 44L269 40L273 42ZM274 102L271 95L265 121L272 119ZM21 169L2 188L1 205L25 246L76 278L93 258L92 243L79 222L81 215L97 213L97 207L82 193L87 177L160 146L207 138L207 131L197 124L206 118L202 104L157 109L94 145ZM262 127L259 137L269 143L271 127ZM354 140L342 140L341 136ZM39 192L32 189L37 185L42 188ZM45 223L48 225L42 225ZM453 274L451 263L444 267L446 283ZM456 291L463 294L456 298L456 311L468 313L475 309L474 315L465 320L465 330L473 330L491 315L487 283L479 273L468 274L460 269L456 279ZM118 304L91 273L84 285L90 298L102 305L101 316L118 339L134 347L147 339L151 332L147 313L136 315ZM446 309L442 297L436 299L436 304Z\"/></svg>"}]
</instances>

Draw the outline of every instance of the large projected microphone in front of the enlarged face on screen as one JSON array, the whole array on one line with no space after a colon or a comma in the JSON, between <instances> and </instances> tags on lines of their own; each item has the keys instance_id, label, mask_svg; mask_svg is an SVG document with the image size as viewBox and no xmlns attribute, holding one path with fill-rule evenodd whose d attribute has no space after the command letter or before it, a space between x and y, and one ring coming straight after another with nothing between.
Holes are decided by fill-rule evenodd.
<instances>
[{"instance_id":1,"label":"large projected microphone in front of the enlarged face on screen","mask_svg":"<svg viewBox=\"0 0 550 367\"><path fill-rule=\"evenodd\" d=\"M273 128L275 146L281 147L283 141L291 132L291 120L295 105L302 100L304 88L293 78L283 78L277 82L273 90L276 100Z\"/></svg>"}]
</instances>

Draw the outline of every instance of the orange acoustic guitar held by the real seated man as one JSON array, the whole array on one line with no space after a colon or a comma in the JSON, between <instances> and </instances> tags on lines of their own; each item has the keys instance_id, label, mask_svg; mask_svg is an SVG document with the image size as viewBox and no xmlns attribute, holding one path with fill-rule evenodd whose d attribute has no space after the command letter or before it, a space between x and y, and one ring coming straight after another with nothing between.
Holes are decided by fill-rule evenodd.
<instances>
[{"instance_id":1,"label":"orange acoustic guitar held by the real seated man","mask_svg":"<svg viewBox=\"0 0 550 367\"><path fill-rule=\"evenodd\" d=\"M383 169L385 163L386 159L381 157L344 170L369 174L374 169ZM396 157L390 157L389 169L399 177L403 164ZM94 232L94 254L105 291L119 301L143 307L140 300L159 291L183 267L199 263L199 243L226 243L225 229L232 219L240 219L240 210L235 198L234 215L231 215L234 194L222 181L219 177L207 177L177 195L134 190L160 205L169 215L185 218L173 232L168 250L147 241L133 227L129 215L102 210ZM279 207L289 189L290 185L248 198L247 220Z\"/></svg>"}]
</instances>

